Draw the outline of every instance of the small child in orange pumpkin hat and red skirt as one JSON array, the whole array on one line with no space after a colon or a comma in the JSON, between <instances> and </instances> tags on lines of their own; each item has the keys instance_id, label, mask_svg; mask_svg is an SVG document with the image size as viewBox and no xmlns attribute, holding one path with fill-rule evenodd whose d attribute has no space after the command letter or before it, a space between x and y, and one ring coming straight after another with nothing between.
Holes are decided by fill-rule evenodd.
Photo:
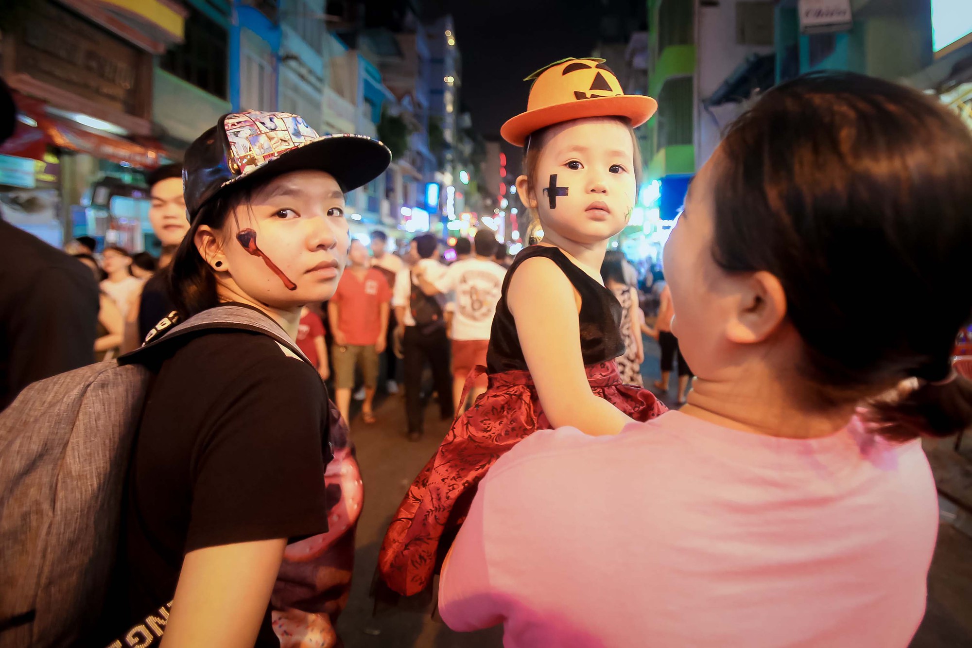
<instances>
[{"instance_id":1,"label":"small child in orange pumpkin hat and red skirt","mask_svg":"<svg viewBox=\"0 0 972 648\"><path fill-rule=\"evenodd\" d=\"M633 127L656 103L624 94L601 58L557 61L528 79L536 79L528 110L502 134L525 145L517 195L543 241L520 252L503 281L486 393L456 419L385 536L378 567L398 594L428 588L475 484L520 440L562 425L613 435L665 412L651 392L621 382L621 305L599 271L608 238L635 206L641 160Z\"/></svg>"}]
</instances>

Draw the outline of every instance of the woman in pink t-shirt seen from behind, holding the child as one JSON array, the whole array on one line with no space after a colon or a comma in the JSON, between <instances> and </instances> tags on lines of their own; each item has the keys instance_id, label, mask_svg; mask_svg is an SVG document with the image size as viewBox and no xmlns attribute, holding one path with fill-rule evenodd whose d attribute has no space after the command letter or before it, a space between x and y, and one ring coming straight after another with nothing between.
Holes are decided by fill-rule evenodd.
<instances>
[{"instance_id":1,"label":"woman in pink t-shirt seen from behind, holding the child","mask_svg":"<svg viewBox=\"0 0 972 648\"><path fill-rule=\"evenodd\" d=\"M972 133L933 99L847 73L766 92L665 250L688 405L507 452L443 620L520 648L907 646L938 520L918 436L972 423L969 205Z\"/></svg>"}]
</instances>

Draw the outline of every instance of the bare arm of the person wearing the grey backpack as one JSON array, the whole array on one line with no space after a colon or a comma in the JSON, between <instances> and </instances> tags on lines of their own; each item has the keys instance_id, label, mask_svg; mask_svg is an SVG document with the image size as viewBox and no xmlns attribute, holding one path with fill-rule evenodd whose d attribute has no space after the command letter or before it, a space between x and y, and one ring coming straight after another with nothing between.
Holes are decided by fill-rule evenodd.
<instances>
[{"instance_id":1,"label":"bare arm of the person wearing the grey backpack","mask_svg":"<svg viewBox=\"0 0 972 648\"><path fill-rule=\"evenodd\" d=\"M276 538L187 554L162 648L251 648L286 546L286 538Z\"/></svg>"}]
</instances>

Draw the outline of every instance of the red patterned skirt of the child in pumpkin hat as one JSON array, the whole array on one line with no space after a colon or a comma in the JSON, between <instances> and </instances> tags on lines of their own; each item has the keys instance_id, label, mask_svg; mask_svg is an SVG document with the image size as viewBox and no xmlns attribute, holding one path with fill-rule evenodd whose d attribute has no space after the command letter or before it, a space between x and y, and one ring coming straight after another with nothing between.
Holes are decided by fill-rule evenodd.
<instances>
[{"instance_id":1,"label":"red patterned skirt of the child in pumpkin hat","mask_svg":"<svg viewBox=\"0 0 972 648\"><path fill-rule=\"evenodd\" d=\"M644 421L666 411L650 391L622 383L613 360L584 369L594 394L624 414ZM465 393L483 373L478 366L469 374ZM529 372L490 375L486 392L456 418L401 500L381 545L374 594L387 598L382 585L406 596L426 590L466 520L479 480L506 450L551 427Z\"/></svg>"}]
</instances>

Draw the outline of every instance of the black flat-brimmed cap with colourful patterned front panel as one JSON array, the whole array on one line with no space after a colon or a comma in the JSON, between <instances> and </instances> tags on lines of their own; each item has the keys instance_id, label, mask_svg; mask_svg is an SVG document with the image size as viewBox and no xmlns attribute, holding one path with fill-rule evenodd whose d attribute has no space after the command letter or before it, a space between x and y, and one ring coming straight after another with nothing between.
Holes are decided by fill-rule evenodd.
<instances>
[{"instance_id":1,"label":"black flat-brimmed cap with colourful patterned front panel","mask_svg":"<svg viewBox=\"0 0 972 648\"><path fill-rule=\"evenodd\" d=\"M229 113L186 151L186 209L191 221L210 198L237 180L269 180L303 169L330 173L341 191L350 192L377 178L390 162L388 147L364 135L318 135L291 113Z\"/></svg>"}]
</instances>

